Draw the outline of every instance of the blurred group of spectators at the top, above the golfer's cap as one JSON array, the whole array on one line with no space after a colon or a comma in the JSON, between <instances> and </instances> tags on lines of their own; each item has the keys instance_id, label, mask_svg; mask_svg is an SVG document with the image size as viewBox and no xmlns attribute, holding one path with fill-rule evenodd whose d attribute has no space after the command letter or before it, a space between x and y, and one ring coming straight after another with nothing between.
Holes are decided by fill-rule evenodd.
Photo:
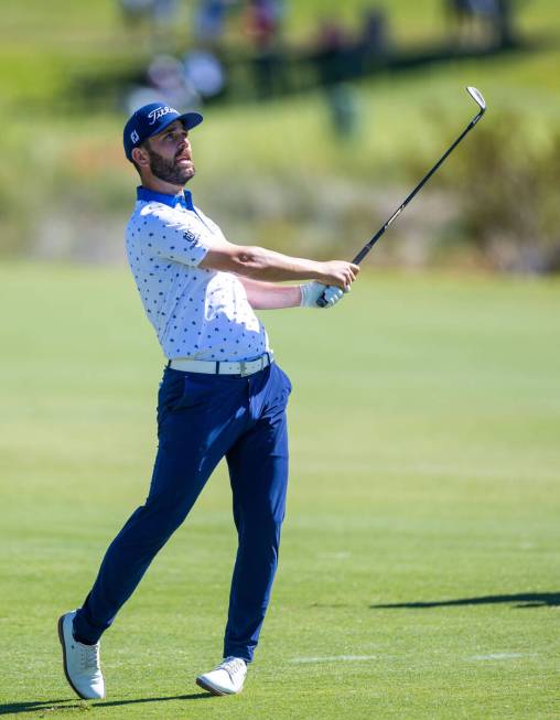
<instances>
[{"instance_id":1,"label":"blurred group of spectators at the top, above the golfer's cap","mask_svg":"<svg viewBox=\"0 0 560 720\"><path fill-rule=\"evenodd\" d=\"M148 26L165 45L166 32L176 32L180 0L119 0L126 24ZM299 89L301 77L313 84L331 85L368 72L371 63L388 50L387 18L377 8L365 8L362 25L349 33L340 21L319 20L314 36L304 47L290 47L284 37L288 0L196 0L191 3L189 50L181 55L155 52L142 85L128 97L130 108L168 100L177 108L196 107L230 89L231 78L241 77L237 89L246 96L265 98ZM225 39L235 22L244 39L231 50Z\"/></svg>"}]
</instances>

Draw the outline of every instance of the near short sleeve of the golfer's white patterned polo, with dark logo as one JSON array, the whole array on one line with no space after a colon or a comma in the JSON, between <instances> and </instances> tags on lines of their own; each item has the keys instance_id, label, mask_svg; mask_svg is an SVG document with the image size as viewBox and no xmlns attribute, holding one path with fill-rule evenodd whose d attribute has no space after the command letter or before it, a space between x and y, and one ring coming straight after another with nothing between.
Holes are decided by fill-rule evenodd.
<instances>
[{"instance_id":1,"label":"near short sleeve of the golfer's white patterned polo, with dark logo","mask_svg":"<svg viewBox=\"0 0 560 720\"><path fill-rule=\"evenodd\" d=\"M154 256L191 267L202 262L209 247L182 213L165 205L149 205L142 215L148 247Z\"/></svg>"}]
</instances>

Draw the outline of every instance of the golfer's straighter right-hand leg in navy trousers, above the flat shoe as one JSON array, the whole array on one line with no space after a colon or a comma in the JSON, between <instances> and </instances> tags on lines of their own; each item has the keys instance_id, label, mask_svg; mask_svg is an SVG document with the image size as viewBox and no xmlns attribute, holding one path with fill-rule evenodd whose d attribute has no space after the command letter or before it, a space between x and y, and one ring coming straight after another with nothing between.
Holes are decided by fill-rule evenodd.
<instances>
[{"instance_id":1,"label":"golfer's straighter right-hand leg in navy trousers, above the flat shoe","mask_svg":"<svg viewBox=\"0 0 560 720\"><path fill-rule=\"evenodd\" d=\"M290 389L282 370L272 366L265 390L259 389L251 397L260 417L226 455L239 547L231 580L224 657L252 660L270 599L286 511L286 404Z\"/></svg>"}]
</instances>

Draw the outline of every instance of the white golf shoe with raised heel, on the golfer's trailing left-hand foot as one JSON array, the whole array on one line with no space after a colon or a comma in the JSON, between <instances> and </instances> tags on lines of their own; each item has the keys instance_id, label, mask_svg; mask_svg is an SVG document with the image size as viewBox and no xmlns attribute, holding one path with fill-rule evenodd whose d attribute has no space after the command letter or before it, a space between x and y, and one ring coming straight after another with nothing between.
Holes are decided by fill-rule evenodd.
<instances>
[{"instance_id":1,"label":"white golf shoe with raised heel, on the golfer's trailing left-hand foot","mask_svg":"<svg viewBox=\"0 0 560 720\"><path fill-rule=\"evenodd\" d=\"M58 637L61 640L64 675L72 688L84 700L103 700L105 680L99 665L99 643L84 645L74 640L73 610L58 619Z\"/></svg>"}]
</instances>

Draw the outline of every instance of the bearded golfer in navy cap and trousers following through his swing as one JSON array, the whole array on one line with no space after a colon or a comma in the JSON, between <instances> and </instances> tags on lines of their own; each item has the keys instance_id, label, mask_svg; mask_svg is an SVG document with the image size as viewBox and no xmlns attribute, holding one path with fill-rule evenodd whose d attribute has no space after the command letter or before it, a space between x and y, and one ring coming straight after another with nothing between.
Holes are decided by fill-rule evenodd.
<instances>
[{"instance_id":1,"label":"bearded golfer in navy cap and trousers following through his swing","mask_svg":"<svg viewBox=\"0 0 560 720\"><path fill-rule=\"evenodd\" d=\"M146 503L109 546L82 608L58 620L64 671L85 699L105 697L103 633L224 456L238 550L224 659L196 683L213 695L243 689L278 563L291 390L254 310L316 308L323 292L332 307L358 272L349 262L316 262L229 243L184 190L195 172L189 130L202 119L154 103L125 126L125 153L141 179L127 254L169 362L158 397L159 447ZM276 284L284 280L311 282Z\"/></svg>"}]
</instances>

